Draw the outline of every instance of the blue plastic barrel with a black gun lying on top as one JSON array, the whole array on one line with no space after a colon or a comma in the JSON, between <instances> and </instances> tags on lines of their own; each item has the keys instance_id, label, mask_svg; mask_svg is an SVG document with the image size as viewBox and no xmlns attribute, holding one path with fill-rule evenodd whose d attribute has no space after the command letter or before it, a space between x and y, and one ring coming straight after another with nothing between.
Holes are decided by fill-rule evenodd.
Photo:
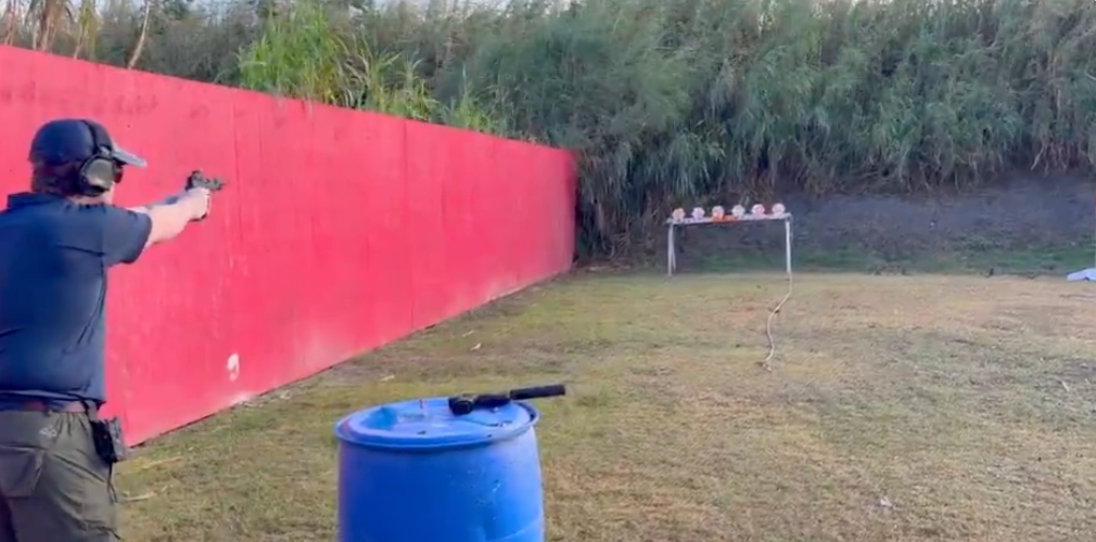
<instances>
[{"instance_id":1,"label":"blue plastic barrel with a black gun lying on top","mask_svg":"<svg viewBox=\"0 0 1096 542\"><path fill-rule=\"evenodd\" d=\"M544 542L539 418L521 402L454 416L427 399L341 419L339 540Z\"/></svg>"}]
</instances>

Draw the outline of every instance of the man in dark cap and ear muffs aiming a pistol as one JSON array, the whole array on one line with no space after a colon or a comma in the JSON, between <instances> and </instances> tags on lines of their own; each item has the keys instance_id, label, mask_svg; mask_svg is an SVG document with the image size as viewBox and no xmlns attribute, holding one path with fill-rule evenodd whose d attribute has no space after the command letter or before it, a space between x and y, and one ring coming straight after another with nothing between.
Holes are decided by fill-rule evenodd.
<instances>
[{"instance_id":1,"label":"man in dark cap and ear muffs aiming a pistol","mask_svg":"<svg viewBox=\"0 0 1096 542\"><path fill-rule=\"evenodd\" d=\"M30 191L0 211L0 542L113 542L126 448L99 416L107 269L205 218L221 183L195 172L164 201L117 207L145 161L87 119L46 123L28 158Z\"/></svg>"}]
</instances>

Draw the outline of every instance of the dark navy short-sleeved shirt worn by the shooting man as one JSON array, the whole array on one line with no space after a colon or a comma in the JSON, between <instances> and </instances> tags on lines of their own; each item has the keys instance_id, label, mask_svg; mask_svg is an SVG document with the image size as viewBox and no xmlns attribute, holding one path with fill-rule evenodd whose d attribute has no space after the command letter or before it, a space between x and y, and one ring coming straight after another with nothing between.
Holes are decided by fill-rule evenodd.
<instances>
[{"instance_id":1,"label":"dark navy short-sleeved shirt worn by the shooting man","mask_svg":"<svg viewBox=\"0 0 1096 542\"><path fill-rule=\"evenodd\" d=\"M106 402L106 269L133 263L147 215L15 194L0 211L0 407Z\"/></svg>"}]
</instances>

